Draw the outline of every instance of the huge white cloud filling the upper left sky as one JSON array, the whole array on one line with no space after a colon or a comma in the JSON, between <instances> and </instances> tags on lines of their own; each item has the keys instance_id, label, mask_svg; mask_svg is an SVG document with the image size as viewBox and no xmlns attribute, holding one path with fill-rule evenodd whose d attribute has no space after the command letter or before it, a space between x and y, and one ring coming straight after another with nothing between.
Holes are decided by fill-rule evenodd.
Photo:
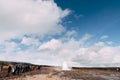
<instances>
[{"instance_id":1,"label":"huge white cloud filling the upper left sky","mask_svg":"<svg viewBox=\"0 0 120 80\"><path fill-rule=\"evenodd\" d=\"M61 19L69 14L53 1L0 0L1 40L25 34L40 36L60 34Z\"/></svg>"}]
</instances>

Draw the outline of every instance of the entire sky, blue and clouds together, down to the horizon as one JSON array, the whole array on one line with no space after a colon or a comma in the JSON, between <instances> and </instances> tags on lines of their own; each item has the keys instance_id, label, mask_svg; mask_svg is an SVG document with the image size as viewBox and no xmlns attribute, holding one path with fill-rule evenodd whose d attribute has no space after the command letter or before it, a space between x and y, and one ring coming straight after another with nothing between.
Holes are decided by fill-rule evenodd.
<instances>
[{"instance_id":1,"label":"entire sky, blue and clouds together, down to the horizon","mask_svg":"<svg viewBox=\"0 0 120 80\"><path fill-rule=\"evenodd\" d=\"M1 0L0 60L120 66L119 0Z\"/></svg>"}]
</instances>

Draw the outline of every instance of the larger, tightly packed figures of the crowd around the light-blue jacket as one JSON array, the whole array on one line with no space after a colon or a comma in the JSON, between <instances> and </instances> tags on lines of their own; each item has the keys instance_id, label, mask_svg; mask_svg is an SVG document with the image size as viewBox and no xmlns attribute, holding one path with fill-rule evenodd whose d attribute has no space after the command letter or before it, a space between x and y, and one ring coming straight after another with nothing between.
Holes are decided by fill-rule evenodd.
<instances>
[{"instance_id":1,"label":"larger, tightly packed figures of the crowd around the light-blue jacket","mask_svg":"<svg viewBox=\"0 0 120 80\"><path fill-rule=\"evenodd\" d=\"M31 71L30 65L9 65L7 69L7 74L6 76L10 75L20 75L21 73L25 73Z\"/></svg>"}]
</instances>

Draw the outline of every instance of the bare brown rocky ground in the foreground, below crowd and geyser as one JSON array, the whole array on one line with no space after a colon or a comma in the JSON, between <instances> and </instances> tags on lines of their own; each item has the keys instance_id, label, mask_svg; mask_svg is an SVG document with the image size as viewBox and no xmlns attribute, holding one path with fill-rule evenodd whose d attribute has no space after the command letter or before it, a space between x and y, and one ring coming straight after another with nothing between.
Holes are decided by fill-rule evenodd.
<instances>
[{"instance_id":1,"label":"bare brown rocky ground in the foreground, below crowd and geyser","mask_svg":"<svg viewBox=\"0 0 120 80\"><path fill-rule=\"evenodd\" d=\"M40 70L2 77L0 80L120 80L120 72L83 68L61 71L54 67L42 67Z\"/></svg>"}]
</instances>

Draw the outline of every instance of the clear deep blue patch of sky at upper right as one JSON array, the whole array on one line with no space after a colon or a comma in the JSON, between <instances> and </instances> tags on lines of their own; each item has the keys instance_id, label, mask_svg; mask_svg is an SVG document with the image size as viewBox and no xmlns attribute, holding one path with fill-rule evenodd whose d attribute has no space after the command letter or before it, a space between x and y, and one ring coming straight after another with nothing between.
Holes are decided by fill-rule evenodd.
<instances>
[{"instance_id":1,"label":"clear deep blue patch of sky at upper right","mask_svg":"<svg viewBox=\"0 0 120 80\"><path fill-rule=\"evenodd\" d=\"M55 0L55 2L61 8L72 11L66 19L68 23L65 22L68 29L76 29L80 35L90 33L96 38L109 35L114 41L120 40L119 0Z\"/></svg>"}]
</instances>

